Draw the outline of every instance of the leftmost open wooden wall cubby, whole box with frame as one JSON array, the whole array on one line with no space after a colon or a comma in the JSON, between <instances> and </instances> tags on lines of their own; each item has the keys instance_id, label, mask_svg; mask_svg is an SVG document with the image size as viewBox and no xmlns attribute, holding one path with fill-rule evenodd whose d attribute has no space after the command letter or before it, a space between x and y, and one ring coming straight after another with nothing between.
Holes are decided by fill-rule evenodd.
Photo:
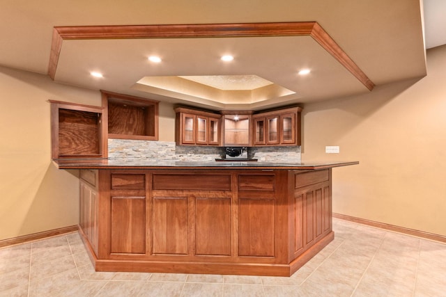
<instances>
[{"instance_id":1,"label":"leftmost open wooden wall cubby, whole box with frame","mask_svg":"<svg viewBox=\"0 0 446 297\"><path fill-rule=\"evenodd\" d=\"M52 159L103 158L102 107L49 100Z\"/></svg>"}]
</instances>

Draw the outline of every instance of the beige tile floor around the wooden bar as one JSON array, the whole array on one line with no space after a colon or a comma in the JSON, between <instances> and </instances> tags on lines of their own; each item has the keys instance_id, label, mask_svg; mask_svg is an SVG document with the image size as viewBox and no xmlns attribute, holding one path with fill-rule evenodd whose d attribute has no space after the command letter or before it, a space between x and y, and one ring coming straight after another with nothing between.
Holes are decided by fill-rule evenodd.
<instances>
[{"instance_id":1,"label":"beige tile floor around the wooden bar","mask_svg":"<svg viewBox=\"0 0 446 297\"><path fill-rule=\"evenodd\" d=\"M0 296L446 296L446 244L333 220L290 278L93 270L79 234L0 249Z\"/></svg>"}]
</instances>

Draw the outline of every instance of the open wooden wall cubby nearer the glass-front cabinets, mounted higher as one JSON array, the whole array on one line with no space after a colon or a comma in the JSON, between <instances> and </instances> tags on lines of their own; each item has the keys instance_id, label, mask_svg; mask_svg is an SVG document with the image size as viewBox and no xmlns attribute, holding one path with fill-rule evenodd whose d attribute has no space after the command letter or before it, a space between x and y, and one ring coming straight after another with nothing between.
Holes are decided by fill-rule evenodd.
<instances>
[{"instance_id":1,"label":"open wooden wall cubby nearer the glass-front cabinets, mounted higher","mask_svg":"<svg viewBox=\"0 0 446 297\"><path fill-rule=\"evenodd\" d=\"M158 140L157 101L101 91L108 138Z\"/></svg>"}]
</instances>

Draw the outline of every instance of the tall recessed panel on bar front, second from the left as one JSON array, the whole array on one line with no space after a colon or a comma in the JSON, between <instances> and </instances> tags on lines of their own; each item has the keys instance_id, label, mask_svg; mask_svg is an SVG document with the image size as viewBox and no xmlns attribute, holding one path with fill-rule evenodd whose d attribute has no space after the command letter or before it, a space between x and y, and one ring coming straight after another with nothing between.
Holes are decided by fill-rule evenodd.
<instances>
[{"instance_id":1,"label":"tall recessed panel on bar front, second from the left","mask_svg":"<svg viewBox=\"0 0 446 297\"><path fill-rule=\"evenodd\" d=\"M187 198L153 199L153 254L187 255Z\"/></svg>"}]
</instances>

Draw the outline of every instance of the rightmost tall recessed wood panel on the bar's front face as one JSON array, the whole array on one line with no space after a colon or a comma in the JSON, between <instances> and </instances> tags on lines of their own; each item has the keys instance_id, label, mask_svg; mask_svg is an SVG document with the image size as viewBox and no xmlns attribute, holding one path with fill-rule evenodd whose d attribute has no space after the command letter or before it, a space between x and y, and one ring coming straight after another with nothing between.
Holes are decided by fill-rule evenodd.
<instances>
[{"instance_id":1,"label":"rightmost tall recessed wood panel on the bar's front face","mask_svg":"<svg viewBox=\"0 0 446 297\"><path fill-rule=\"evenodd\" d=\"M274 200L240 199L238 255L274 257Z\"/></svg>"}]
</instances>

